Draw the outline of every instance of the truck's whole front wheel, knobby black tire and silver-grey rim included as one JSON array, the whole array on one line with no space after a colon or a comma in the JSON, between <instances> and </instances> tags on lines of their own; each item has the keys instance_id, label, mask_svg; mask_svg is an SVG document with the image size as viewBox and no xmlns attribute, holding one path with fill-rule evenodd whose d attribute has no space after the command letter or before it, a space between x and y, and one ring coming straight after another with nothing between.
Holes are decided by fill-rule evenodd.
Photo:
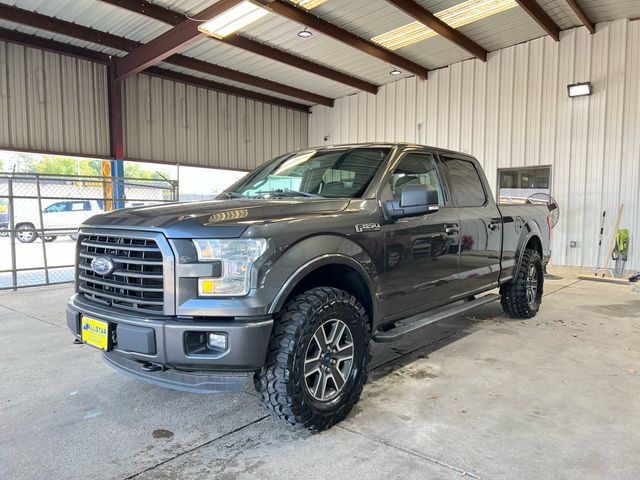
<instances>
[{"instance_id":1,"label":"truck's whole front wheel, knobby black tire and silver-grey rim included","mask_svg":"<svg viewBox=\"0 0 640 480\"><path fill-rule=\"evenodd\" d=\"M370 339L367 314L350 293L318 287L297 295L278 314L254 377L262 403L309 430L343 420L367 381Z\"/></svg>"}]
</instances>

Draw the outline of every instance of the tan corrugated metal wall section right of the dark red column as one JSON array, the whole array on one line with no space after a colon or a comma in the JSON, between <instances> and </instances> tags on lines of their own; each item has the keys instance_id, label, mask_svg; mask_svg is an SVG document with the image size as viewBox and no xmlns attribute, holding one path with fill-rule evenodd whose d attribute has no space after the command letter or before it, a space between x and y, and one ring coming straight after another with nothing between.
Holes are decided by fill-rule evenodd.
<instances>
[{"instance_id":1,"label":"tan corrugated metal wall section right of the dark red column","mask_svg":"<svg viewBox=\"0 0 640 480\"><path fill-rule=\"evenodd\" d=\"M123 96L127 158L251 170L307 145L303 112L148 75Z\"/></svg>"}]
</instances>

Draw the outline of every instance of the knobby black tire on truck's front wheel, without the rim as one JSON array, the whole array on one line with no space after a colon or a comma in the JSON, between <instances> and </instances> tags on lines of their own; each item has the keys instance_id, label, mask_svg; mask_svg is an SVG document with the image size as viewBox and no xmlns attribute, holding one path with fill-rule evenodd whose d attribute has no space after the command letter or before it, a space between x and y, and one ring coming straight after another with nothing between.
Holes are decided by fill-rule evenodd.
<instances>
[{"instance_id":1,"label":"knobby black tire on truck's front wheel, without the rim","mask_svg":"<svg viewBox=\"0 0 640 480\"><path fill-rule=\"evenodd\" d=\"M313 398L304 378L304 360L314 333L330 319L344 322L353 341L353 366L340 393L331 401ZM332 287L307 290L288 301L276 315L267 359L254 375L256 390L272 415L312 431L343 420L360 398L367 381L371 329L360 302Z\"/></svg>"}]
</instances>

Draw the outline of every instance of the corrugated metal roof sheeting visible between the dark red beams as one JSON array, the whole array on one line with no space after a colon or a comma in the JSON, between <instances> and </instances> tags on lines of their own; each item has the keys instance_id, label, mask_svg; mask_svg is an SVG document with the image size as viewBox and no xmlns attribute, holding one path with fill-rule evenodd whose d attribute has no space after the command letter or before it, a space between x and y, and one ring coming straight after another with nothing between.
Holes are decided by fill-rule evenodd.
<instances>
[{"instance_id":1,"label":"corrugated metal roof sheeting visible between the dark red beams","mask_svg":"<svg viewBox=\"0 0 640 480\"><path fill-rule=\"evenodd\" d=\"M417 1L434 13L460 3L460 0ZM561 29L581 25L564 0L537 1L558 23ZM83 0L81 2L77 0L0 0L0 3L15 5L25 10L92 27L138 42L148 42L170 28L170 26L155 19L99 0ZM215 1L154 0L153 3L192 16L215 3ZM580 5L591 20L596 23L640 16L640 0L581 0ZM327 0L313 9L311 13L367 40L414 21L413 18L385 0L350 0L348 2L344 0ZM3 20L0 20L0 27L92 48L111 55L121 54L121 52L100 45L71 39L64 35L51 34L24 25L16 25ZM319 32L314 32L311 38L299 38L296 34L302 28L304 28L303 25L274 14L268 15L250 25L242 34L255 41L285 50L335 70L349 73L374 84L383 85L397 80L398 77L389 75L392 67L388 63L366 55ZM461 27L460 31L489 51L545 35L545 32L537 23L519 7ZM357 91L353 87L292 66L274 62L214 40L203 39L183 53L214 64L332 98L350 95ZM440 68L470 58L470 54L466 51L440 36L431 37L425 41L401 48L396 53L429 69ZM213 79L213 77L190 70L187 71L180 67L163 66L174 71ZM403 72L403 76L409 77L411 74ZM238 82L219 78L215 80L247 90L261 91L277 97L300 101L291 97L265 92Z\"/></svg>"}]
</instances>

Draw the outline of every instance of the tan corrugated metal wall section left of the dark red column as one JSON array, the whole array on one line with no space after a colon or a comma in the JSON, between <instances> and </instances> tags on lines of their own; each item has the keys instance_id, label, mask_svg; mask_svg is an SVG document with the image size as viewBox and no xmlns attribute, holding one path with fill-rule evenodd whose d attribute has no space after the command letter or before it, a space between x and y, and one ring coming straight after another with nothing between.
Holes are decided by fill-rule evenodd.
<instances>
[{"instance_id":1,"label":"tan corrugated metal wall section left of the dark red column","mask_svg":"<svg viewBox=\"0 0 640 480\"><path fill-rule=\"evenodd\" d=\"M0 41L0 148L108 155L104 65Z\"/></svg>"}]
</instances>

